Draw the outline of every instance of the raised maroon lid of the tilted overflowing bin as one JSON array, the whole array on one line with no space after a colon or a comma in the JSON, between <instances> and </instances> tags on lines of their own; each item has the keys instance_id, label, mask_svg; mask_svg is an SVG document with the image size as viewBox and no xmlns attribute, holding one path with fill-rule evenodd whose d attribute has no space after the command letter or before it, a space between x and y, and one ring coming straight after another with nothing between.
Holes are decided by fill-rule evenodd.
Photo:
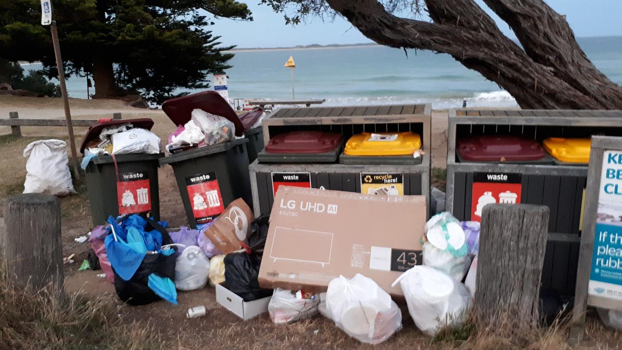
<instances>
[{"instance_id":1,"label":"raised maroon lid of the tilted overflowing bin","mask_svg":"<svg viewBox=\"0 0 622 350\"><path fill-rule=\"evenodd\" d=\"M183 126L189 122L192 119L192 110L197 108L229 119L235 126L235 136L244 134L244 126L239 120L238 114L235 113L231 104L216 91L188 94L178 98L167 99L162 103L162 111L177 126Z\"/></svg>"}]
</instances>

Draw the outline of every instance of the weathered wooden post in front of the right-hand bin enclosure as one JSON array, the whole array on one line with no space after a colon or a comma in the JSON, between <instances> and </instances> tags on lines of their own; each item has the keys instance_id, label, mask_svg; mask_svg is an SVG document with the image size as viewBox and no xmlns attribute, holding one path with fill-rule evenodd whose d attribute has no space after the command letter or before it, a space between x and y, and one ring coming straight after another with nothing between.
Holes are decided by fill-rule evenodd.
<instances>
[{"instance_id":1,"label":"weathered wooden post in front of the right-hand bin enclosure","mask_svg":"<svg viewBox=\"0 0 622 350\"><path fill-rule=\"evenodd\" d=\"M527 330L539 324L549 207L486 205L481 216L475 310L484 321Z\"/></svg>"}]
</instances>

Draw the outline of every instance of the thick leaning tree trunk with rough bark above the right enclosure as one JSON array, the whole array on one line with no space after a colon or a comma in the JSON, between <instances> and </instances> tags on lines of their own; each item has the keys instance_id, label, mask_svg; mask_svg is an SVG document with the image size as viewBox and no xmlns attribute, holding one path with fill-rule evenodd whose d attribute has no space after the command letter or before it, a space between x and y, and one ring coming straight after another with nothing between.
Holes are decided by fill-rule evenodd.
<instances>
[{"instance_id":1,"label":"thick leaning tree trunk with rough bark above the right enclosure","mask_svg":"<svg viewBox=\"0 0 622 350\"><path fill-rule=\"evenodd\" d=\"M563 28L567 23L542 0L521 1L531 4L521 9L508 9L515 1L485 1L505 17L526 50L503 35L473 0L425 0L434 23L394 16L376 0L327 3L378 44L452 55L507 90L522 108L622 109L622 88L593 67L570 28ZM529 30L534 21L564 25Z\"/></svg>"}]
</instances>

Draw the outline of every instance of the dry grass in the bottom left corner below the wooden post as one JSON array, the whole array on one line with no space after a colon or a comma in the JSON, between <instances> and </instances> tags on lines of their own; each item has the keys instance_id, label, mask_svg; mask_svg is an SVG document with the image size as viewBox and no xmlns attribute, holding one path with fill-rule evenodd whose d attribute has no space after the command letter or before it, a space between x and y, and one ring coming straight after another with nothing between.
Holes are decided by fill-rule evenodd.
<instances>
[{"instance_id":1,"label":"dry grass in the bottom left corner below the wooden post","mask_svg":"<svg viewBox=\"0 0 622 350\"><path fill-rule=\"evenodd\" d=\"M149 326L123 325L111 297L59 297L50 288L31 292L0 273L1 350L157 350Z\"/></svg>"}]
</instances>

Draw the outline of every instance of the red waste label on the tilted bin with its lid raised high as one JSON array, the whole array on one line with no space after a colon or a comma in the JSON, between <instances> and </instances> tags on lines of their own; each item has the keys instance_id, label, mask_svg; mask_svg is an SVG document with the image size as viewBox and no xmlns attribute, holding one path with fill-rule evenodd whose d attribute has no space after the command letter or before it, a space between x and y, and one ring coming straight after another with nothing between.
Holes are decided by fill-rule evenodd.
<instances>
[{"instance_id":1,"label":"red waste label on the tilted bin with its lid raised high","mask_svg":"<svg viewBox=\"0 0 622 350\"><path fill-rule=\"evenodd\" d=\"M186 189L192 206L192 214L197 224L210 223L225 211L215 172L187 177Z\"/></svg>"}]
</instances>

